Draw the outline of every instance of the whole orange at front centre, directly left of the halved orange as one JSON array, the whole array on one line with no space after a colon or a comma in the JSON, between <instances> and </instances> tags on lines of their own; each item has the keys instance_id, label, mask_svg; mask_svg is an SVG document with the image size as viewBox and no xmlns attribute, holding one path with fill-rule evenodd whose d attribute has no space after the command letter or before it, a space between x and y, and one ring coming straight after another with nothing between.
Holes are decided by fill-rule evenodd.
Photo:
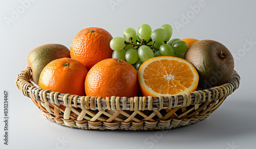
<instances>
[{"instance_id":1,"label":"whole orange at front centre, directly left of the halved orange","mask_svg":"<svg viewBox=\"0 0 256 149\"><path fill-rule=\"evenodd\" d=\"M94 65L84 82L89 96L137 96L139 90L137 70L119 59L105 59Z\"/></svg>"}]
</instances>

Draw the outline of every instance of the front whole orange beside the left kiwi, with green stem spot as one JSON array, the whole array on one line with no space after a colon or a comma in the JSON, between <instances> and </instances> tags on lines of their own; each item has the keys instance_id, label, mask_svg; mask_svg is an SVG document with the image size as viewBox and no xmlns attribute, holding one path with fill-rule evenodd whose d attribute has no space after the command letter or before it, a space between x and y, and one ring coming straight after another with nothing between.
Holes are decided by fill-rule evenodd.
<instances>
[{"instance_id":1,"label":"front whole orange beside the left kiwi, with green stem spot","mask_svg":"<svg viewBox=\"0 0 256 149\"><path fill-rule=\"evenodd\" d=\"M77 60L61 58L48 63L39 77L42 89L83 96L88 70Z\"/></svg>"}]
</instances>

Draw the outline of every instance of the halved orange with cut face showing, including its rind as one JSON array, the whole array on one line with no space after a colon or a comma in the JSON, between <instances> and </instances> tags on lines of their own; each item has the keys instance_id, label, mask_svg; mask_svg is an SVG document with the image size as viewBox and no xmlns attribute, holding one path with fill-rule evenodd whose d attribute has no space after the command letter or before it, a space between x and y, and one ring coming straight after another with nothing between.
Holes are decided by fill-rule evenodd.
<instances>
[{"instance_id":1,"label":"halved orange with cut face showing, including its rind","mask_svg":"<svg viewBox=\"0 0 256 149\"><path fill-rule=\"evenodd\" d=\"M143 96L178 95L197 89L199 77L188 61L172 57L155 57L145 61L138 72Z\"/></svg>"}]
</instances>

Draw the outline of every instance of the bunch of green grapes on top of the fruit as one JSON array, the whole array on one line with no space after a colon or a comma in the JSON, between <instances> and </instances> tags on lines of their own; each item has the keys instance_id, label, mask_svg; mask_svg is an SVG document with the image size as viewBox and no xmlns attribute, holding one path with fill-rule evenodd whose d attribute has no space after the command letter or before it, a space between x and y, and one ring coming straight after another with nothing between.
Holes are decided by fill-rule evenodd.
<instances>
[{"instance_id":1,"label":"bunch of green grapes on top of the fruit","mask_svg":"<svg viewBox=\"0 0 256 149\"><path fill-rule=\"evenodd\" d=\"M123 30L123 37L114 37L110 47L114 50L112 58L125 60L137 70L148 59L158 56L175 56L184 58L187 43L178 38L170 40L173 28L163 24L152 32L148 24L141 24L136 32L133 28Z\"/></svg>"}]
</instances>

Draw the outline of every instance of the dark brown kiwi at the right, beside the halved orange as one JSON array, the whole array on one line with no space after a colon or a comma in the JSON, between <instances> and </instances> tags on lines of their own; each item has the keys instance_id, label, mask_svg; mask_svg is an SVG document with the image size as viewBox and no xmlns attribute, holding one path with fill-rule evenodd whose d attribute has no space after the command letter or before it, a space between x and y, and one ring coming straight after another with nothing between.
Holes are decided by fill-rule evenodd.
<instances>
[{"instance_id":1,"label":"dark brown kiwi at the right, beside the halved orange","mask_svg":"<svg viewBox=\"0 0 256 149\"><path fill-rule=\"evenodd\" d=\"M228 48L214 40L200 40L191 44L184 59L198 71L198 90L227 83L234 69L234 60Z\"/></svg>"}]
</instances>

